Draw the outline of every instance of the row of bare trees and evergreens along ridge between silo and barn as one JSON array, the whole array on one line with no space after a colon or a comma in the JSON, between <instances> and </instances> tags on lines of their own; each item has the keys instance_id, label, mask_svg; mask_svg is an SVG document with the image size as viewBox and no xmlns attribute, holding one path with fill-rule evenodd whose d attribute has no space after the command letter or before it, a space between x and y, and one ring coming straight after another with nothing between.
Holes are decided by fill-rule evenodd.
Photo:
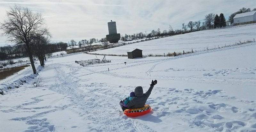
<instances>
[{"instance_id":1,"label":"row of bare trees and evergreens along ridge between silo and barn","mask_svg":"<svg viewBox=\"0 0 256 132\"><path fill-rule=\"evenodd\" d=\"M169 30L163 30L162 32L158 28L157 30L152 30L149 33L145 31L145 33L140 32L140 33L133 33L129 35L125 34L125 35L121 35L121 40L128 40L128 39L135 40L135 39L143 39L143 38L151 38L151 37L161 37L166 35L172 36L176 34L207 30L211 28L221 28L221 27L229 26L230 24L232 24L234 22L233 18L236 16L236 14L250 12L250 11L251 11L250 8L243 7L238 11L236 11L235 13L232 13L229 16L228 20L225 19L223 13L220 13L220 15L209 13L204 16L204 22L202 23L200 21L195 21L195 22L189 21L188 24L182 23L182 29L173 30L172 25L169 25ZM254 8L252 11L256 11L256 8Z\"/></svg>"}]
</instances>

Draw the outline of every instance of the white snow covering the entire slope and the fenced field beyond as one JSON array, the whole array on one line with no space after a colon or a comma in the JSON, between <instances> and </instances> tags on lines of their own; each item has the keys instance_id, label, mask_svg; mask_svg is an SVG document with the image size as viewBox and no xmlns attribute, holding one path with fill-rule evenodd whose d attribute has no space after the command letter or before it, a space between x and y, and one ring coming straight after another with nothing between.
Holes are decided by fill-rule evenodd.
<instances>
[{"instance_id":1,"label":"white snow covering the entire slope and the fenced field beyond","mask_svg":"<svg viewBox=\"0 0 256 132\"><path fill-rule=\"evenodd\" d=\"M168 47L181 51L231 44L235 38L252 40L255 26L193 32L96 52L126 54L136 47L143 54L155 54ZM220 37L223 34L228 37ZM202 35L212 39L201 42ZM187 41L181 43L181 38ZM103 59L84 53L55 56L44 68L38 67L38 75L28 67L1 80L0 89L6 92L0 96L0 131L256 131L256 42L175 57L106 56L111 62L85 67L75 63L96 57ZM34 87L40 77L45 84ZM146 92L155 79L146 102L152 111L124 115L119 101L136 86ZM15 83L20 87L6 88Z\"/></svg>"}]
</instances>

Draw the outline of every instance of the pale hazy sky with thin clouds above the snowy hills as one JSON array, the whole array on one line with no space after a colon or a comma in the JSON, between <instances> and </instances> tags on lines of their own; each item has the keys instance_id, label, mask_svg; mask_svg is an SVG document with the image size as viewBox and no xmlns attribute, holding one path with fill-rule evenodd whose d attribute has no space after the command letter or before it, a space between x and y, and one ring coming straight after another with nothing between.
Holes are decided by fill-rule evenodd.
<instances>
[{"instance_id":1,"label":"pale hazy sky with thin clouds above the snowy hills","mask_svg":"<svg viewBox=\"0 0 256 132\"><path fill-rule=\"evenodd\" d=\"M209 13L225 18L239 9L255 8L255 0L1 0L0 22L14 4L41 12L52 33L52 41L101 39L108 34L108 22L116 22L117 33L162 32L169 25L182 29L182 23L204 22ZM0 31L2 33L2 31ZM5 46L6 38L0 37ZM11 43L8 43L11 44Z\"/></svg>"}]
</instances>

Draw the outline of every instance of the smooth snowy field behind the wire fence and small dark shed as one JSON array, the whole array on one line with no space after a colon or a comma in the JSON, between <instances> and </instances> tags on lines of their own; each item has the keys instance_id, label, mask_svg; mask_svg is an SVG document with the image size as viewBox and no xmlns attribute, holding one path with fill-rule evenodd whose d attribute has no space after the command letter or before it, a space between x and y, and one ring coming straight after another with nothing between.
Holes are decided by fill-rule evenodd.
<instances>
[{"instance_id":1,"label":"smooth snowy field behind the wire fence and small dark shed","mask_svg":"<svg viewBox=\"0 0 256 132\"><path fill-rule=\"evenodd\" d=\"M128 44L125 46L117 47L114 49L106 49L101 51L95 51L91 53L98 54L116 54L116 55L127 55L127 51L132 48L138 48L143 50L142 54L148 56L153 55L167 55L173 52L191 52L193 51L204 51L213 48L221 48L228 45L235 45L239 42L246 42L247 40L256 41L256 24L241 25L235 27L227 27L223 29L212 29L204 30L200 32L192 32L180 35L174 35L171 37L149 40L135 44ZM135 42L127 41L129 42ZM139 40L140 41L140 40Z\"/></svg>"}]
</instances>

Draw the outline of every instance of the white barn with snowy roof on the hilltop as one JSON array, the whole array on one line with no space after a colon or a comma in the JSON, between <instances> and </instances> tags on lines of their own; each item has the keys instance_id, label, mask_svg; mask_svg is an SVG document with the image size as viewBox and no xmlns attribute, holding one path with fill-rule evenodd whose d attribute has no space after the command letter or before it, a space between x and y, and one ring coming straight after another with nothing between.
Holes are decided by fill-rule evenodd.
<instances>
[{"instance_id":1,"label":"white barn with snowy roof on the hilltop","mask_svg":"<svg viewBox=\"0 0 256 132\"><path fill-rule=\"evenodd\" d=\"M234 19L234 26L256 23L256 11L245 12L236 14Z\"/></svg>"}]
</instances>

